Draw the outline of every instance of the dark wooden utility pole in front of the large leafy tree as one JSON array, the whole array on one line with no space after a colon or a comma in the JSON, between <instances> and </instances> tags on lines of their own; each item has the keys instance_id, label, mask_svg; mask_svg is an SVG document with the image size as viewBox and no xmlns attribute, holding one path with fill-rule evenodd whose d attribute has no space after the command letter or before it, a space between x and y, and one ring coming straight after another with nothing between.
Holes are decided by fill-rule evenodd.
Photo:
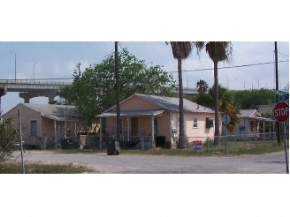
<instances>
[{"instance_id":1,"label":"dark wooden utility pole in front of the large leafy tree","mask_svg":"<svg viewBox=\"0 0 290 217\"><path fill-rule=\"evenodd\" d=\"M120 100L119 100L119 76L118 76L118 41L115 41L115 78L116 78L116 107L117 107L117 116L116 116L116 130L117 130L117 139L115 142L116 149L119 150L119 139L120 139Z\"/></svg>"}]
</instances>

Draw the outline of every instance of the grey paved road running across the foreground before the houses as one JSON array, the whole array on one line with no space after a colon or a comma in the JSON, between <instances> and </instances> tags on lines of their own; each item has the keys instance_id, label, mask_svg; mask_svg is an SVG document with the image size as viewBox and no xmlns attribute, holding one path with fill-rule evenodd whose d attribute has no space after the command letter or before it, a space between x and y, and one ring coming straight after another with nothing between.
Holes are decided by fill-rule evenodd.
<instances>
[{"instance_id":1,"label":"grey paved road running across the foreground before the houses","mask_svg":"<svg viewBox=\"0 0 290 217\"><path fill-rule=\"evenodd\" d=\"M18 155L19 153L14 153ZM26 161L72 163L105 174L285 174L285 153L231 157L152 155L108 156L106 153L26 151Z\"/></svg>"}]
</instances>

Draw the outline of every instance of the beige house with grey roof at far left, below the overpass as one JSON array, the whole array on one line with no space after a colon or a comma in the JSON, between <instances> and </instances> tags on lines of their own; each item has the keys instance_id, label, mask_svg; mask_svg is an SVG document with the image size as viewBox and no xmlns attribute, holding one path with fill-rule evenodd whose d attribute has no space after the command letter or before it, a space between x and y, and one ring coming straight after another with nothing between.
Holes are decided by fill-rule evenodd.
<instances>
[{"instance_id":1,"label":"beige house with grey roof at far left, below the overpass","mask_svg":"<svg viewBox=\"0 0 290 217\"><path fill-rule=\"evenodd\" d=\"M79 134L99 130L96 118L81 117L74 106L19 103L3 116L11 117L17 128L18 111L25 146L56 148L61 138L72 138L72 141L79 142Z\"/></svg>"}]
</instances>

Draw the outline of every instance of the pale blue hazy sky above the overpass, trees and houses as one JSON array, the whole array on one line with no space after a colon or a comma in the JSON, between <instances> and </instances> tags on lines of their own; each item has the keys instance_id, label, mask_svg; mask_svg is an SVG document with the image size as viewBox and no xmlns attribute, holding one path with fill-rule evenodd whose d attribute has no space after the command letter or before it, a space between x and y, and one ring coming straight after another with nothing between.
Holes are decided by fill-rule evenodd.
<instances>
[{"instance_id":1,"label":"pale blue hazy sky above the overpass, trees and houses","mask_svg":"<svg viewBox=\"0 0 290 217\"><path fill-rule=\"evenodd\" d=\"M274 41L232 43L233 60L218 65L221 68L218 70L219 83L235 90L275 88ZM119 41L118 49L125 48L149 65L163 66L164 71L178 79L177 60L172 56L171 47L164 41ZM72 78L76 64L80 62L80 70L84 71L90 64L101 63L105 56L113 52L114 41L0 41L0 79L15 79L15 55L16 79L59 79L59 82L69 82L72 81L69 78ZM279 87L285 88L289 84L288 41L278 41L278 59L281 61ZM212 86L212 67L213 62L205 49L199 56L194 49L182 63L183 86L196 87L199 79ZM5 113L23 101L19 93L9 92L2 97L1 109ZM31 103L48 103L48 98L33 98Z\"/></svg>"}]
</instances>

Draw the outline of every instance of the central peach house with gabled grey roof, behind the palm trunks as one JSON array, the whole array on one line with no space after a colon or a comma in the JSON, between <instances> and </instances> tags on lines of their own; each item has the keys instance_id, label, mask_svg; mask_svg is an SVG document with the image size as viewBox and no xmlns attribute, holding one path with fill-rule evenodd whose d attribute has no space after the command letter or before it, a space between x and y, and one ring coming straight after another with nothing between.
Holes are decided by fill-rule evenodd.
<instances>
[{"instance_id":1,"label":"central peach house with gabled grey roof, behind the palm trunks","mask_svg":"<svg viewBox=\"0 0 290 217\"><path fill-rule=\"evenodd\" d=\"M100 118L101 143L103 133L110 138L116 138L116 116L116 106L97 116ZM214 116L214 110L184 100L185 134L189 144L194 140L214 138ZM221 123L222 114L220 126ZM133 94L121 101L120 134L120 141L136 139L147 142L149 148L176 147L179 137L179 98Z\"/></svg>"}]
</instances>

